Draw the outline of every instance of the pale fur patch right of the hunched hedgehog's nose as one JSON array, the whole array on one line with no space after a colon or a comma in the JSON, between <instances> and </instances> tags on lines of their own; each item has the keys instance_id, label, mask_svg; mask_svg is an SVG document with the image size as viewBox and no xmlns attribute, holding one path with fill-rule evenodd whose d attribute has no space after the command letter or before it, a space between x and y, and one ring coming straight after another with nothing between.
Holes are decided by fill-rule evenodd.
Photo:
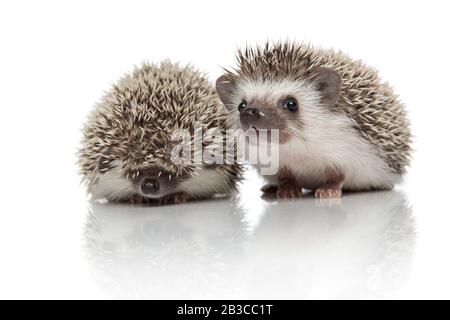
<instances>
[{"instance_id":1,"label":"pale fur patch right of the hunched hedgehog's nose","mask_svg":"<svg viewBox=\"0 0 450 320\"><path fill-rule=\"evenodd\" d=\"M208 197L214 194L228 194L230 185L224 173L214 169L197 169L198 175L185 180L177 187L178 192L184 192L192 198Z\"/></svg>"}]
</instances>

